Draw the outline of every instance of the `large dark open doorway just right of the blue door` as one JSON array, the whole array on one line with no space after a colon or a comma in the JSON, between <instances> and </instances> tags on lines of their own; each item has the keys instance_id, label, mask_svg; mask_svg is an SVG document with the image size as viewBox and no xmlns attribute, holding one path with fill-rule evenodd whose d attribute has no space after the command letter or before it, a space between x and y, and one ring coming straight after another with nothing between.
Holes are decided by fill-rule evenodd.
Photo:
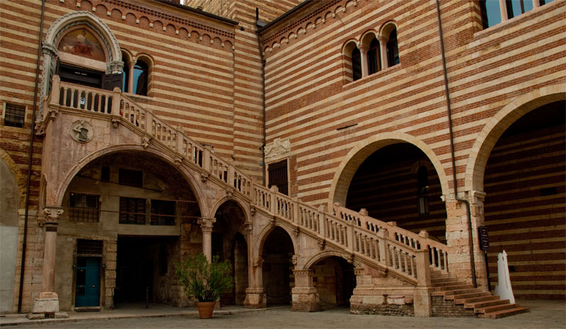
<instances>
[{"instance_id":1,"label":"large dark open doorway just right of the blue door","mask_svg":"<svg viewBox=\"0 0 566 329\"><path fill-rule=\"evenodd\" d=\"M115 307L146 301L167 302L167 280L177 238L118 237ZM174 274L173 274L174 275Z\"/></svg>"}]
</instances>

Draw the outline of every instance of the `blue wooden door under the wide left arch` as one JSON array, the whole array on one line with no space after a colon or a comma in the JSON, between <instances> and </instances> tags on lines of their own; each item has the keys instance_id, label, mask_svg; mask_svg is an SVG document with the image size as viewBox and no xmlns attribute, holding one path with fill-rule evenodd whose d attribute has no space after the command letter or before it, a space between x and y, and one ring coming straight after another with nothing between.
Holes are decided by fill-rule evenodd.
<instances>
[{"instance_id":1,"label":"blue wooden door under the wide left arch","mask_svg":"<svg viewBox=\"0 0 566 329\"><path fill-rule=\"evenodd\" d=\"M100 258L79 257L76 263L75 307L99 306Z\"/></svg>"}]
</instances>

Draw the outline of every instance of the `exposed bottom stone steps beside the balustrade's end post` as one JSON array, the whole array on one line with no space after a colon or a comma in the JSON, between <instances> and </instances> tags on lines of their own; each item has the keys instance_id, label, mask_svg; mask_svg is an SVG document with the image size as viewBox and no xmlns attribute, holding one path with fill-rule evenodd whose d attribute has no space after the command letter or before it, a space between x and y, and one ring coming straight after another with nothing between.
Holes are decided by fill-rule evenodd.
<instances>
[{"instance_id":1,"label":"exposed bottom stone steps beside the balustrade's end post","mask_svg":"<svg viewBox=\"0 0 566 329\"><path fill-rule=\"evenodd\" d=\"M431 284L434 289L432 297L441 296L446 302L453 302L461 313L473 314L478 318L504 318L519 313L529 312L529 308L519 304L511 304L509 299L500 299L482 289L474 288L470 284L460 282L457 278L449 277L439 271L431 272ZM458 311L456 311L458 313ZM467 314L466 314L467 313ZM446 314L437 314L445 316Z\"/></svg>"}]
</instances>

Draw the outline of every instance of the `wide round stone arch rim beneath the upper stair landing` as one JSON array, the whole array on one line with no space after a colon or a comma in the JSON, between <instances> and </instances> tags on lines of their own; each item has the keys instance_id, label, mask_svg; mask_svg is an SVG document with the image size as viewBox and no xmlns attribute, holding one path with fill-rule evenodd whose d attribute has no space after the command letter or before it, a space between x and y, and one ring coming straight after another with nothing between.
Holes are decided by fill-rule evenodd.
<instances>
[{"instance_id":1,"label":"wide round stone arch rim beneath the upper stair landing","mask_svg":"<svg viewBox=\"0 0 566 329\"><path fill-rule=\"evenodd\" d=\"M164 154L163 152L161 152L158 149L153 149L151 147L144 149L144 146L137 145L137 144L123 144L123 145L120 145L120 146L109 146L105 149L100 149L100 150L93 152L93 153L89 154L88 156L85 156L84 158L82 158L79 161L79 163L76 163L76 165L74 165L69 170L69 173L67 173L67 175L65 175L65 177L61 181L61 183L59 183L59 186L57 186L57 194L55 196L55 199L53 200L54 204L50 204L50 205L59 206L59 205L62 204L64 194L67 191L67 187L69 186L69 184L71 183L71 181L73 180L75 175L77 173L79 173L85 166L87 166L88 163L91 163L92 161L96 160L97 158L100 158L101 156L106 156L108 154L117 153L117 152L120 152L120 151L139 151L139 152L142 152L142 153L151 153L154 156L156 156L157 158L160 158L161 160L168 163L173 168L178 168L178 172L181 175L183 175L183 178L185 178L185 181L189 184L192 192L195 193L195 197L197 198L197 204L199 205L199 209L200 209L201 214L208 214L209 213L207 204L206 204L206 202L204 202L204 200L205 200L204 192L202 192L199 185L197 183L195 183L195 180L191 177L191 175L189 175L189 172L183 171L181 169L181 168L183 168L183 166L176 166L175 160L173 158L167 156L167 154Z\"/></svg>"}]
</instances>

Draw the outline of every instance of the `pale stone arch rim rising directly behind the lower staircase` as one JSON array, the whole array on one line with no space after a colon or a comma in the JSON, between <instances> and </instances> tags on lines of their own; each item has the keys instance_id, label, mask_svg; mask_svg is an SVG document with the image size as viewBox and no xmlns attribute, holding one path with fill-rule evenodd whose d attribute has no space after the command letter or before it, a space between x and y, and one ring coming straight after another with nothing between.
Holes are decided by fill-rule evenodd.
<instances>
[{"instance_id":1,"label":"pale stone arch rim rising directly behind the lower staircase","mask_svg":"<svg viewBox=\"0 0 566 329\"><path fill-rule=\"evenodd\" d=\"M350 150L347 156L344 157L344 160L342 160L342 163L340 163L340 166L336 169L337 174L334 175L332 185L330 185L330 192L328 195L328 200L330 202L329 207L331 208L335 202L342 206L346 204L348 187L350 187L354 173L356 173L359 166L366 158L368 158L368 156L381 149L383 146L400 142L417 146L417 148L429 158L434 169L437 171L442 193L446 194L449 191L448 178L446 178L442 163L437 155L434 154L434 151L432 151L430 146L410 134L405 134L403 132L384 132L358 142Z\"/></svg>"}]
</instances>

